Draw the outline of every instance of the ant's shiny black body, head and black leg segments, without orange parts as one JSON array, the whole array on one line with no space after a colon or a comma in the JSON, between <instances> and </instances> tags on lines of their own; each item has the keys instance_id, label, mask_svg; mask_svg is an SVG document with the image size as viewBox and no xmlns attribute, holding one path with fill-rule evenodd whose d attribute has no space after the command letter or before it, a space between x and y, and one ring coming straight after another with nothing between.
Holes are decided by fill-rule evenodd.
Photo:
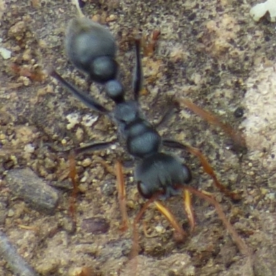
<instances>
[{"instance_id":1,"label":"ant's shiny black body, head and black leg segments, without orange parts","mask_svg":"<svg viewBox=\"0 0 276 276\"><path fill-rule=\"evenodd\" d=\"M114 110L110 111L101 106L90 95L64 80L55 70L50 75L86 106L108 115L115 121L119 134L126 139L128 153L138 159L135 179L139 193L145 198L157 193L164 198L175 195L178 192L177 187L191 180L191 174L189 168L181 164L177 157L161 152L162 146L182 148L181 144L162 140L155 127L141 114L138 99L143 77L139 39L135 40L134 100L129 101L125 99L124 88L117 79L115 40L106 28L89 19L73 19L67 30L66 51L77 68L88 73L92 81L105 85L106 94L115 102ZM86 150L99 150L112 143L114 141L93 144L86 147Z\"/></svg>"}]
</instances>

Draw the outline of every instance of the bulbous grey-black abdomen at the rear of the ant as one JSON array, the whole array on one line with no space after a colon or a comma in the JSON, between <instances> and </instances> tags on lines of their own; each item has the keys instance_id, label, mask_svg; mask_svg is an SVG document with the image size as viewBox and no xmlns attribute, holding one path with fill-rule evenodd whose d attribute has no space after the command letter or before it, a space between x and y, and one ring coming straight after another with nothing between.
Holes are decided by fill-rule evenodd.
<instances>
[{"instance_id":1,"label":"bulbous grey-black abdomen at the rear of the ant","mask_svg":"<svg viewBox=\"0 0 276 276\"><path fill-rule=\"evenodd\" d=\"M115 79L117 46L112 34L87 18L72 19L66 30L66 53L72 63L92 81L106 83Z\"/></svg>"}]
</instances>

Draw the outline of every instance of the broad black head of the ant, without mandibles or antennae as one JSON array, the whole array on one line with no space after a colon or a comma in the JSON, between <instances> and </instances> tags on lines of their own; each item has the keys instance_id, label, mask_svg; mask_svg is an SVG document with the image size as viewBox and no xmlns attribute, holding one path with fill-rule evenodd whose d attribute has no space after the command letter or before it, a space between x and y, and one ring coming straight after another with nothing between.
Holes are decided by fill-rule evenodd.
<instances>
[{"instance_id":1,"label":"broad black head of the ant, without mandibles or antennae","mask_svg":"<svg viewBox=\"0 0 276 276\"><path fill-rule=\"evenodd\" d=\"M179 186L192 179L190 169L163 152L157 152L142 159L135 169L139 193L150 198L157 193L164 199L177 195Z\"/></svg>"}]
</instances>

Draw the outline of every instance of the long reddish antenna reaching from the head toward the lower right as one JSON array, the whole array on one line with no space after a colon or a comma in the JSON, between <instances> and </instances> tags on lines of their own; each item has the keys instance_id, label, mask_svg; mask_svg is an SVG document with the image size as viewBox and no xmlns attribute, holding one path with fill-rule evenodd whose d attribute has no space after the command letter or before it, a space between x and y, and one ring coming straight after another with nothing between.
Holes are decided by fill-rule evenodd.
<instances>
[{"instance_id":1,"label":"long reddish antenna reaching from the head toward the lower right","mask_svg":"<svg viewBox=\"0 0 276 276\"><path fill-rule=\"evenodd\" d=\"M194 195L197 195L197 197L201 197L202 199L205 199L208 201L210 204L215 206L215 209L217 210L217 215L221 219L222 223L224 224L225 228L228 230L230 233L230 236L232 237L233 241L239 248L240 252L244 255L250 256L252 253L248 246L246 246L245 242L239 237L239 234L235 230L235 228L230 224L228 219L226 219L226 215L224 214L224 211L222 210L220 204L215 200L214 197L211 195L208 195L207 193L201 192L191 186L184 185L184 189L188 190L190 193L193 193Z\"/></svg>"}]
</instances>

